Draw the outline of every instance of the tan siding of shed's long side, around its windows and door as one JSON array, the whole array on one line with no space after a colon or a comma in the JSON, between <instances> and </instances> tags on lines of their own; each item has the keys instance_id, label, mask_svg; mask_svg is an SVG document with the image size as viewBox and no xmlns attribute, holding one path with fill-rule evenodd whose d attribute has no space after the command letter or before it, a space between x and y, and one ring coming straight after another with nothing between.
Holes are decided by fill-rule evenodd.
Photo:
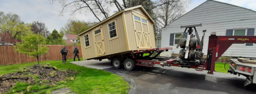
<instances>
[{"instance_id":1,"label":"tan siding of shed's long side, around its windows and door","mask_svg":"<svg viewBox=\"0 0 256 94\"><path fill-rule=\"evenodd\" d=\"M110 40L107 23L109 23L113 20L116 20L116 29L117 29L117 33L118 33L118 38ZM123 22L122 14L98 25L97 28L100 28L101 26L102 26L101 32L103 33L105 52L106 52L105 55L111 55L114 53L128 51L127 43L126 43L126 35L124 32L124 22ZM96 27L93 29L96 29ZM94 32L92 30L87 31L81 35L81 37L84 38L84 34L89 33L89 41L90 41L91 47L85 48L84 39L81 39L81 45L82 45L82 49L83 49L83 58L85 58L85 59L90 59L90 58L96 57L96 51L95 51L95 45L94 45L95 41L93 39ZM96 37L96 40L97 40L97 37ZM103 44L102 44L102 46L103 46Z\"/></svg>"}]
</instances>

